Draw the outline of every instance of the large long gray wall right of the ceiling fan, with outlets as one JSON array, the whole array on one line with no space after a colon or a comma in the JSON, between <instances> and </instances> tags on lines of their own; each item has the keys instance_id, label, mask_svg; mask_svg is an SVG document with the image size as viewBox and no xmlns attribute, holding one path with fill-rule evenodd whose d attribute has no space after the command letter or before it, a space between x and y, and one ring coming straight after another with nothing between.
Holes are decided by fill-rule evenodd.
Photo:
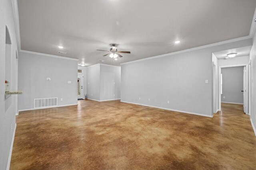
<instances>
[{"instance_id":1,"label":"large long gray wall right of the ceiling fan, with outlets","mask_svg":"<svg viewBox=\"0 0 256 170\"><path fill-rule=\"evenodd\" d=\"M212 116L212 52L250 45L245 39L122 64L121 101Z\"/></svg>"}]
</instances>

